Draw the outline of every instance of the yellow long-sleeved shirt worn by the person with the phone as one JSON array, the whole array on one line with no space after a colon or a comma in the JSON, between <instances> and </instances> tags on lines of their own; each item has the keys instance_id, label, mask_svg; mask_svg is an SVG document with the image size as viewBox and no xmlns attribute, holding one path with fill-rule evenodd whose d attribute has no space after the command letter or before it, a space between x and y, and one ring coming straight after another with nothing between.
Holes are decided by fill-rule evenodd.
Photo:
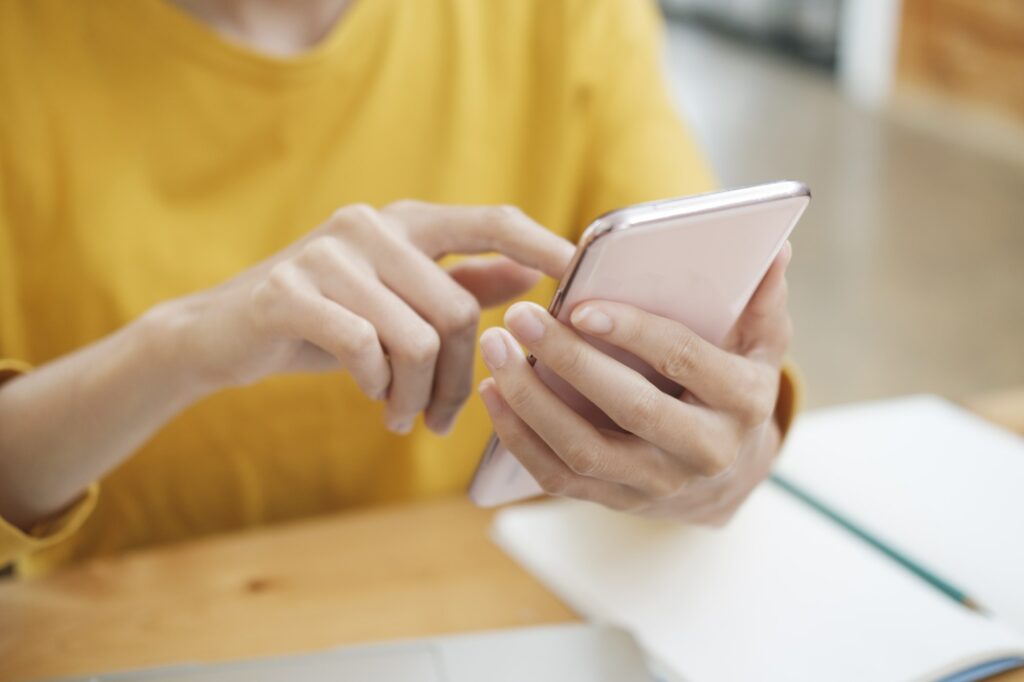
<instances>
[{"instance_id":1,"label":"yellow long-sleeved shirt worn by the person with the phone","mask_svg":"<svg viewBox=\"0 0 1024 682\"><path fill-rule=\"evenodd\" d=\"M271 58L164 0L0 4L0 375L223 282L345 204L515 204L573 238L711 188L658 33L646 0L356 0L314 49ZM392 435L381 413L337 374L223 391L45 527L0 519L0 564L466 485L490 428L478 398L446 438Z\"/></svg>"}]
</instances>

